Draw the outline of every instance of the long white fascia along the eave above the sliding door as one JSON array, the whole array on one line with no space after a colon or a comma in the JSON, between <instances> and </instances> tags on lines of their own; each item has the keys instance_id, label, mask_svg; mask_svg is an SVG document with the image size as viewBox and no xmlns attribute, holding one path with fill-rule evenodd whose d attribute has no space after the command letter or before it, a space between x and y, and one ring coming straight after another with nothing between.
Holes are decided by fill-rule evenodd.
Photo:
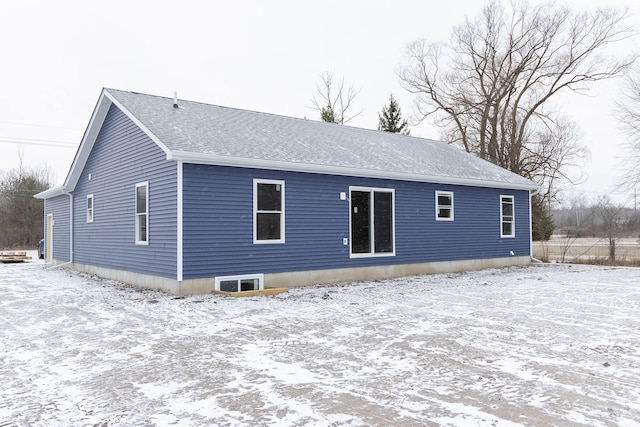
<instances>
[{"instance_id":1,"label":"long white fascia along the eave above the sliding door","mask_svg":"<svg viewBox=\"0 0 640 427\"><path fill-rule=\"evenodd\" d=\"M535 190L539 186L535 183L509 183L502 181L491 180L476 180L468 178L458 177L443 177L433 175L417 175L406 172L390 172L390 171L378 171L372 169L354 169L344 166L327 166L311 163L293 163L283 162L278 160L262 160L251 159L244 157L231 157L231 156L217 156L213 154L199 154L185 151L173 151L167 156L168 160L182 161L185 163L196 163L205 165L218 165L218 166L235 166L242 168L256 168L256 169L273 169L291 172L307 172L307 173L321 173L327 175L343 175L343 176L356 176L362 178L381 178L381 179L395 179L401 181L416 181L416 182L432 182L435 184L452 184L452 185L464 185L470 187L489 187L489 188L502 188L509 190Z\"/></svg>"}]
</instances>

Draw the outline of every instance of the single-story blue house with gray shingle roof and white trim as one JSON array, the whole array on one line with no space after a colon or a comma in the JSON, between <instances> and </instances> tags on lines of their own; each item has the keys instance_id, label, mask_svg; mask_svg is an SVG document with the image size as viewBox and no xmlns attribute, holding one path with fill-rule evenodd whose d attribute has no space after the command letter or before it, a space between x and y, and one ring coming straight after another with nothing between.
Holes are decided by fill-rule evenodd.
<instances>
[{"instance_id":1,"label":"single-story blue house with gray shingle roof and white trim","mask_svg":"<svg viewBox=\"0 0 640 427\"><path fill-rule=\"evenodd\" d=\"M46 259L175 294L530 262L535 183L441 141L104 89Z\"/></svg>"}]
</instances>

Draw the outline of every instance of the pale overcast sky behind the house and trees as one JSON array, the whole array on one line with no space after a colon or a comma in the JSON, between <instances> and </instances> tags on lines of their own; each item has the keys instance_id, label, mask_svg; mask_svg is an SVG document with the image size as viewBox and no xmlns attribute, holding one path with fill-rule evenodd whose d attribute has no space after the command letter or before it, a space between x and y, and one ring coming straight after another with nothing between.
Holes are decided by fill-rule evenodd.
<instances>
[{"instance_id":1,"label":"pale overcast sky behind the house and trees","mask_svg":"<svg viewBox=\"0 0 640 427\"><path fill-rule=\"evenodd\" d=\"M103 87L318 119L311 98L326 71L360 89L349 124L375 129L393 93L409 116L412 95L398 82L404 48L446 40L486 2L395 1L14 1L0 25L0 170L47 165L61 184ZM622 7L618 0L576 8ZM640 29L631 6L628 23ZM621 49L635 49L637 41ZM563 109L591 151L586 182L594 198L615 188L622 136L612 113L618 82ZM440 139L429 123L412 135ZM21 142L18 144L17 142ZM624 199L618 195L617 200ZM630 199L631 200L631 199Z\"/></svg>"}]
</instances>

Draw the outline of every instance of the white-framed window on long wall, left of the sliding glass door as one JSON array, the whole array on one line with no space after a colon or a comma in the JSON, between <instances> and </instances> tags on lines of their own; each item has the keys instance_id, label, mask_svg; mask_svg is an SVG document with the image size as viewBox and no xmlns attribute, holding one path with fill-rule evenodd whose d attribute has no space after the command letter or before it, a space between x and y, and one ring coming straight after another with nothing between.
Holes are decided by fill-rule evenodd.
<instances>
[{"instance_id":1,"label":"white-framed window on long wall, left of the sliding glass door","mask_svg":"<svg viewBox=\"0 0 640 427\"><path fill-rule=\"evenodd\" d=\"M284 243L284 181L253 180L253 243Z\"/></svg>"}]
</instances>

